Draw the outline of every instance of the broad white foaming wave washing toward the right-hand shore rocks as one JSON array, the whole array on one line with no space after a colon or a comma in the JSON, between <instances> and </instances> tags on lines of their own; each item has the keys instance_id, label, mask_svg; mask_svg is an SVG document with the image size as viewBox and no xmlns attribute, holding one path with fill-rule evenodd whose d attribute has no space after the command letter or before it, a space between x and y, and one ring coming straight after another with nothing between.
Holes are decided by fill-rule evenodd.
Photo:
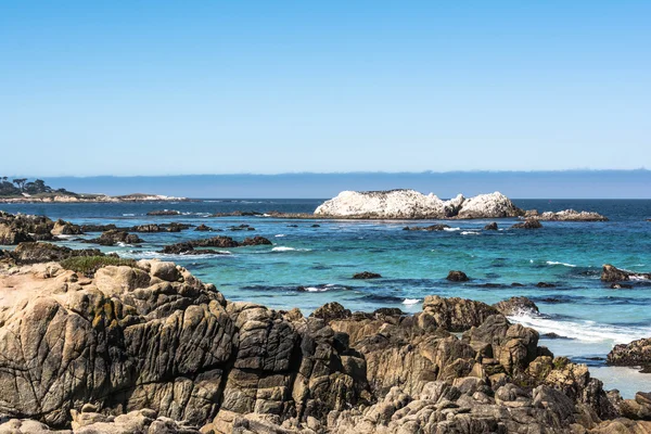
<instances>
[{"instance_id":1,"label":"broad white foaming wave washing toward the right-hand shore rocks","mask_svg":"<svg viewBox=\"0 0 651 434\"><path fill-rule=\"evenodd\" d=\"M511 321L531 327L540 334L556 333L583 342L610 342L627 344L631 341L651 335L651 327L622 327L598 323L595 321L558 321L532 312L520 312L508 317Z\"/></svg>"}]
</instances>

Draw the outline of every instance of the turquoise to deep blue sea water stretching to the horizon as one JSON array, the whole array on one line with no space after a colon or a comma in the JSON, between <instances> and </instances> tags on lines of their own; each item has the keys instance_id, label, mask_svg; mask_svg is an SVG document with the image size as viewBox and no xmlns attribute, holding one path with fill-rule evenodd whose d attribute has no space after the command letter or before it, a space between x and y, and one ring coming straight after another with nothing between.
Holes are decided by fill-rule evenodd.
<instances>
[{"instance_id":1,"label":"turquoise to deep blue sea water stretching to the horizon","mask_svg":"<svg viewBox=\"0 0 651 434\"><path fill-rule=\"evenodd\" d=\"M510 230L515 220L498 220L499 231L483 231L490 220L445 221L444 232L404 231L406 221L285 220L268 217L213 218L235 209L312 212L321 200L205 200L193 203L148 204L23 204L0 205L10 213L44 214L77 224L135 226L144 222L205 224L225 232L140 233L141 246L102 247L133 258L174 260L201 279L215 283L233 301L270 307L299 307L309 314L337 301L352 310L399 307L418 311L425 295L461 296L495 303L513 295L536 302L540 316L512 318L569 339L547 340L557 355L588 362L625 395L651 391L651 374L604 368L614 344L651 336L651 282L633 290L611 290L599 280L601 266L651 271L651 201L515 201L523 208L596 210L608 222L544 222L540 230ZM148 210L170 208L184 215L150 217ZM419 221L419 226L441 222ZM255 231L227 228L247 224ZM314 228L318 224L320 227ZM290 227L296 225L297 227ZM178 256L156 251L179 241L224 234L242 240L259 234L272 246L227 250L228 255ZM88 238L95 237L90 234ZM88 247L76 241L73 247ZM449 270L463 270L467 283L445 280ZM358 281L352 276L373 271L382 279ZM537 288L537 282L554 288ZM523 286L512 286L518 282ZM488 284L488 285L487 285ZM299 286L304 289L301 290ZM604 371L605 370L605 371ZM630 371L630 376L625 372ZM624 373L623 373L624 372ZM633 376L636 374L635 376Z\"/></svg>"}]
</instances>

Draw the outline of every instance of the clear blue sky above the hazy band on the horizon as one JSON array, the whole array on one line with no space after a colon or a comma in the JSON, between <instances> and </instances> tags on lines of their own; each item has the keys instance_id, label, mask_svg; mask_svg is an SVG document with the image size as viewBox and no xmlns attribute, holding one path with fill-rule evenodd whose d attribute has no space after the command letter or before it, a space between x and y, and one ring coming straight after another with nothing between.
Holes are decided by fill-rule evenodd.
<instances>
[{"instance_id":1,"label":"clear blue sky above the hazy band on the horizon","mask_svg":"<svg viewBox=\"0 0 651 434\"><path fill-rule=\"evenodd\" d=\"M651 167L651 2L0 3L0 174Z\"/></svg>"}]
</instances>

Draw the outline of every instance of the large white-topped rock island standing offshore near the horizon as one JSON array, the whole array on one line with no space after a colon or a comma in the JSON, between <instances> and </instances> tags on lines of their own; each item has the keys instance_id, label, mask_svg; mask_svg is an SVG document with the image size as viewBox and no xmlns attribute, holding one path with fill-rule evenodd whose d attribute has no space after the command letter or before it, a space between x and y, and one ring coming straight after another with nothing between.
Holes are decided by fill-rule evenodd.
<instances>
[{"instance_id":1,"label":"large white-topped rock island standing offshore near the horizon","mask_svg":"<svg viewBox=\"0 0 651 434\"><path fill-rule=\"evenodd\" d=\"M459 194L443 201L414 190L343 191L315 210L317 216L387 219L497 218L521 214L523 212L499 192L471 199Z\"/></svg>"}]
</instances>

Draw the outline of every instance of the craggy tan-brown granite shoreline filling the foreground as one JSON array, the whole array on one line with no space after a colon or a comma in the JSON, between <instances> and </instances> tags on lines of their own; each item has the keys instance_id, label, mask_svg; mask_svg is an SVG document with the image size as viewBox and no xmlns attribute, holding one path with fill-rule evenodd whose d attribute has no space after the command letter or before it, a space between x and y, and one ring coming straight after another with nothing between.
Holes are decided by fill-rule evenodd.
<instances>
[{"instance_id":1,"label":"craggy tan-brown granite shoreline filling the foreground","mask_svg":"<svg viewBox=\"0 0 651 434\"><path fill-rule=\"evenodd\" d=\"M81 272L92 254L0 265L0 433L651 432L648 394L604 391L505 317L526 298L305 317L173 263Z\"/></svg>"}]
</instances>

